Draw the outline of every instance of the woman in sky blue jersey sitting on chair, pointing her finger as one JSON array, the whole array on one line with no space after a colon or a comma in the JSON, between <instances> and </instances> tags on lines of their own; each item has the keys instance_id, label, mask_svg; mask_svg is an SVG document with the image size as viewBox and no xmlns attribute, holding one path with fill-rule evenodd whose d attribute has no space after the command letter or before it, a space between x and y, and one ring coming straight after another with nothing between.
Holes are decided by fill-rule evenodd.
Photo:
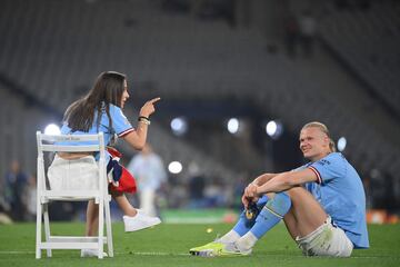
<instances>
[{"instance_id":1,"label":"woman in sky blue jersey sitting on chair, pointing her finger","mask_svg":"<svg viewBox=\"0 0 400 267\"><path fill-rule=\"evenodd\" d=\"M149 116L154 112L154 103L159 101L160 98L154 98L143 105L140 109L139 122L136 129L122 112L128 98L126 76L114 71L102 72L97 78L94 86L88 95L68 107L64 113L61 134L93 135L102 131L104 134L106 145L112 144L117 135L119 138L123 138L133 149L141 150L146 144L148 127L150 125ZM109 156L107 158L111 161L111 156L107 151L106 155ZM60 175L57 174L66 172L68 172L67 180L69 182L67 182L67 187L70 187L68 189L77 187L77 184L82 186L82 179L72 181L76 178L73 174L86 172L86 177L88 178L97 177L96 160L98 160L98 157L90 154L58 152L48 171L50 186L60 185L60 181L57 179ZM81 170L83 171L81 172ZM66 186L66 181L61 182ZM110 188L114 187L111 186ZM110 192L124 214L123 222L126 231L134 231L161 222L158 217L150 217L141 210L133 208L123 192L113 189L111 189ZM98 205L96 205L93 200L90 200L87 209L87 236L94 236L98 231ZM83 249L81 256L97 256L97 250Z\"/></svg>"}]
</instances>

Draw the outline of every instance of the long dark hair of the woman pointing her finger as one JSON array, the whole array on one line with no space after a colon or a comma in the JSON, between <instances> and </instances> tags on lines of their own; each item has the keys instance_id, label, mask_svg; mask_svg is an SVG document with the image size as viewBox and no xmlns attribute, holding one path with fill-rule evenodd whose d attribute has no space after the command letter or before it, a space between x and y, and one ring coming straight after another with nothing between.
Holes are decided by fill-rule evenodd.
<instances>
[{"instance_id":1,"label":"long dark hair of the woman pointing her finger","mask_svg":"<svg viewBox=\"0 0 400 267\"><path fill-rule=\"evenodd\" d=\"M93 125L94 112L97 112L97 128L99 129L101 113L106 111L109 126L112 128L110 103L121 106L124 80L126 76L116 71L100 73L88 95L68 107L63 121L72 131L88 132Z\"/></svg>"}]
</instances>

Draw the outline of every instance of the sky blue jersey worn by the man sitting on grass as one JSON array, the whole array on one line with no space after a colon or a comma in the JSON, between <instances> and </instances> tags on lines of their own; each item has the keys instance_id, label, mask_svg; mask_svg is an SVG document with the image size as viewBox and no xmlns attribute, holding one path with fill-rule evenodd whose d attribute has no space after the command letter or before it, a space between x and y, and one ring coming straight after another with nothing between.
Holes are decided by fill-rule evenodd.
<instances>
[{"instance_id":1,"label":"sky blue jersey worn by the man sitting on grass","mask_svg":"<svg viewBox=\"0 0 400 267\"><path fill-rule=\"evenodd\" d=\"M297 170L306 168L318 178L317 182L307 182L306 189L320 202L332 222L344 230L354 248L368 248L366 192L356 169L340 152L331 152Z\"/></svg>"}]
</instances>

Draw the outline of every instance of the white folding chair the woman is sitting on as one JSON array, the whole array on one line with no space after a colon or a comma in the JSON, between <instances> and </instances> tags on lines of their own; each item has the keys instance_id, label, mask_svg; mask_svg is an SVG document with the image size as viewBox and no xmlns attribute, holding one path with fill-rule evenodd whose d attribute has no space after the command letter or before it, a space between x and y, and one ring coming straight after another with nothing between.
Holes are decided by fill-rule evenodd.
<instances>
[{"instance_id":1,"label":"white folding chair the woman is sitting on","mask_svg":"<svg viewBox=\"0 0 400 267\"><path fill-rule=\"evenodd\" d=\"M41 258L41 249L47 249L47 256L51 257L51 249L97 249L98 257L103 258L103 245L108 245L108 256L113 257L112 231L110 217L110 200L106 170L106 150L103 134L98 135L43 135L37 131L38 140L38 197L37 197L37 237L36 258ZM97 145L77 146L77 142L88 141ZM57 144L56 144L57 142ZM61 144L60 144L61 142ZM71 142L74 145L72 146ZM67 145L64 145L67 144ZM79 190L51 190L46 186L46 167L43 152L99 152L99 187L97 189ZM84 236L52 236L50 234L49 202L50 201L82 201L94 199L99 205L99 233L96 237ZM44 220L44 240L42 240L42 215ZM104 236L104 215L106 229Z\"/></svg>"}]
</instances>

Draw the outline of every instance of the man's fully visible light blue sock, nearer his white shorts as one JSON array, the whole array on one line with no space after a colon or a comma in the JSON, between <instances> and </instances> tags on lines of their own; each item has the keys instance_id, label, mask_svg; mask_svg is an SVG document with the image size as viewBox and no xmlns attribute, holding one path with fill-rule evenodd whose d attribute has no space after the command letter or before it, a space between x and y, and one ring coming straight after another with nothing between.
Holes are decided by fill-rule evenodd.
<instances>
[{"instance_id":1,"label":"man's fully visible light blue sock, nearer his white shorts","mask_svg":"<svg viewBox=\"0 0 400 267\"><path fill-rule=\"evenodd\" d=\"M271 198L257 216L256 224L250 231L260 239L267 231L276 226L289 211L290 197L286 192L278 192Z\"/></svg>"}]
</instances>

